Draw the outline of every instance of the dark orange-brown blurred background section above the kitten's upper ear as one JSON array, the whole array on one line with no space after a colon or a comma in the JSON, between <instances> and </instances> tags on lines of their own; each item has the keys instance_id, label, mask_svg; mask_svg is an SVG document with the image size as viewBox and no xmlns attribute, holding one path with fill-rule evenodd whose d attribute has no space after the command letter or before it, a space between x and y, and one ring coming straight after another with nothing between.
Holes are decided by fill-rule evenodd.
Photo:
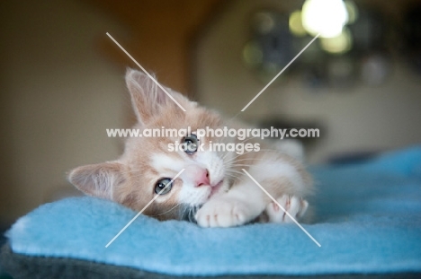
<instances>
[{"instance_id":1,"label":"dark orange-brown blurred background section above the kitten's upper ear","mask_svg":"<svg viewBox=\"0 0 421 279\"><path fill-rule=\"evenodd\" d=\"M123 23L130 36L116 34L121 45L138 62L155 74L159 82L184 94L192 93L191 41L226 0L85 0ZM112 46L101 43L103 53L121 65L138 67Z\"/></svg>"}]
</instances>

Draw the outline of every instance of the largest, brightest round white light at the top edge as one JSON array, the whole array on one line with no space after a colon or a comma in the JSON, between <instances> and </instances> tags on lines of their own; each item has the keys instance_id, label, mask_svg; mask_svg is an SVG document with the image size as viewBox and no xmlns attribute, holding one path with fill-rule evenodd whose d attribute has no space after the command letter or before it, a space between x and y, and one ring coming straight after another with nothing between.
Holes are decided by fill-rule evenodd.
<instances>
[{"instance_id":1,"label":"largest, brightest round white light at the top edge","mask_svg":"<svg viewBox=\"0 0 421 279\"><path fill-rule=\"evenodd\" d=\"M342 0L306 0L302 5L302 25L313 36L337 37L346 22L348 13Z\"/></svg>"}]
</instances>

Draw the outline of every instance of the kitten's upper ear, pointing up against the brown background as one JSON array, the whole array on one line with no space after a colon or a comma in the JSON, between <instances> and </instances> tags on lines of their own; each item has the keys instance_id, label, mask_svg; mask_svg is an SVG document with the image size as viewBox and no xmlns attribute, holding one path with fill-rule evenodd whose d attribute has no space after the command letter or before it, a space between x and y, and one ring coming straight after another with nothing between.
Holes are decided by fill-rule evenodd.
<instances>
[{"instance_id":1,"label":"kitten's upper ear, pointing up against the brown background","mask_svg":"<svg viewBox=\"0 0 421 279\"><path fill-rule=\"evenodd\" d=\"M166 89L164 92L147 74L137 70L127 70L126 84L139 123L148 123L148 120L159 114L161 109L176 106L174 100L171 100L166 92L178 102L186 100L183 95L169 88L164 87Z\"/></svg>"}]
</instances>

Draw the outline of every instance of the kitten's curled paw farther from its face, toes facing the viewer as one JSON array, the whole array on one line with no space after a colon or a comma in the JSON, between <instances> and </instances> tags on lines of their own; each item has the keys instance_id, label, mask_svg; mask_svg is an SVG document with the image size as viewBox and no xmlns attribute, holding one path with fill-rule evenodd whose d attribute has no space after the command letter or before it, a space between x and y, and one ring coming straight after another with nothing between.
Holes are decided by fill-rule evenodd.
<instances>
[{"instance_id":1,"label":"kitten's curled paw farther from its face, toes facing the viewer","mask_svg":"<svg viewBox=\"0 0 421 279\"><path fill-rule=\"evenodd\" d=\"M297 196L283 195L277 199L277 202L295 220L300 219L309 207L309 203L306 200ZM266 214L269 218L268 222L293 222L291 217L273 202L267 205Z\"/></svg>"}]
</instances>

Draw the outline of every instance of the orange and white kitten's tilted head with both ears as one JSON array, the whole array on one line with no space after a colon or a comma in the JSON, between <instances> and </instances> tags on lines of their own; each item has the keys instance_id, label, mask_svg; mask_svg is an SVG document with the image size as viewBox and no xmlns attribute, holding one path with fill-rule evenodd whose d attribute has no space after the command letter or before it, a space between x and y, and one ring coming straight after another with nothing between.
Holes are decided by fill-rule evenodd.
<instances>
[{"instance_id":1,"label":"orange and white kitten's tilted head with both ears","mask_svg":"<svg viewBox=\"0 0 421 279\"><path fill-rule=\"evenodd\" d=\"M138 118L134 128L162 131L164 127L167 131L178 131L190 126L192 134L130 137L119 160L76 168L69 175L70 182L87 195L110 199L136 211L142 210L157 196L144 214L161 220L180 219L185 211L228 189L224 161L229 161L233 155L209 149L210 142L226 142L228 139L206 136L196 139L194 134L198 128L221 126L219 114L198 106L169 88L165 88L167 95L139 71L129 70L126 83ZM190 148L175 150L177 143ZM170 151L171 147L173 151ZM170 183L172 179L174 181ZM166 187L168 183L170 185Z\"/></svg>"}]
</instances>

